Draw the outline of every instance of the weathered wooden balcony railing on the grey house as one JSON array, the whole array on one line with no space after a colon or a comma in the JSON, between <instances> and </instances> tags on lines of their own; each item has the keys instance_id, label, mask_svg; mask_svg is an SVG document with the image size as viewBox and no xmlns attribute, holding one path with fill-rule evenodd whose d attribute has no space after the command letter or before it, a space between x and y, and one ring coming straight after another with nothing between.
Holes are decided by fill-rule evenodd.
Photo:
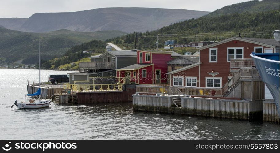
<instances>
[{"instance_id":1,"label":"weathered wooden balcony railing on the grey house","mask_svg":"<svg viewBox=\"0 0 280 153\"><path fill-rule=\"evenodd\" d=\"M116 62L79 62L79 69L116 69Z\"/></svg>"}]
</instances>

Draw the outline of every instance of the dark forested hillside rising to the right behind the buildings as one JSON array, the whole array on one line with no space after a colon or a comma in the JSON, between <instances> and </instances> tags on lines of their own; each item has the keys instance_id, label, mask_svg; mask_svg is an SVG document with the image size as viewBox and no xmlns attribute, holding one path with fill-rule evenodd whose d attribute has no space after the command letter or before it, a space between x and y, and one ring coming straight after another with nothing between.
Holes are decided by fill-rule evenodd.
<instances>
[{"instance_id":1,"label":"dark forested hillside rising to the right behind the buildings","mask_svg":"<svg viewBox=\"0 0 280 153\"><path fill-rule=\"evenodd\" d=\"M177 43L192 41L220 41L232 36L273 38L272 31L279 29L279 0L248 1L213 11L197 19L181 21L155 31L138 33L138 49L155 49L157 34L159 47L166 40ZM223 33L222 33L223 32ZM134 48L136 33L108 41L126 49Z\"/></svg>"}]
</instances>

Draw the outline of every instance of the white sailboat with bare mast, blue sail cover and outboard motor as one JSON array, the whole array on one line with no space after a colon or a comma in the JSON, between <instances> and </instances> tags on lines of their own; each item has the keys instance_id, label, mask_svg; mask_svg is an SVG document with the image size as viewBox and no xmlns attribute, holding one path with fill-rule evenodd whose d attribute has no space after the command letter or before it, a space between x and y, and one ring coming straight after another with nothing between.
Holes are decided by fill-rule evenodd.
<instances>
[{"instance_id":1,"label":"white sailboat with bare mast, blue sail cover and outboard motor","mask_svg":"<svg viewBox=\"0 0 280 153\"><path fill-rule=\"evenodd\" d=\"M36 96L39 95L38 99L29 99L24 102L17 103L15 101L14 105L18 109L33 109L33 108L43 108L48 107L51 104L52 99L42 99L41 98L41 40L39 40L39 89L36 93L27 94L27 96ZM12 105L11 107L13 107Z\"/></svg>"}]
</instances>

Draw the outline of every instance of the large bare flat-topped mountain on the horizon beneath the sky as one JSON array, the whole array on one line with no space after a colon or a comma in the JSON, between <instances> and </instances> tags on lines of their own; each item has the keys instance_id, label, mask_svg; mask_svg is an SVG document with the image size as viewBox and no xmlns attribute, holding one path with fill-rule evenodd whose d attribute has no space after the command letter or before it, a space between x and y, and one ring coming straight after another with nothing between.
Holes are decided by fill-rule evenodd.
<instances>
[{"instance_id":1,"label":"large bare flat-topped mountain on the horizon beneath the sky","mask_svg":"<svg viewBox=\"0 0 280 153\"><path fill-rule=\"evenodd\" d=\"M20 28L4 27L25 32L49 32L68 29L80 32L119 30L145 32L179 21L198 18L210 12L158 8L99 8L78 12L36 13Z\"/></svg>"}]
</instances>

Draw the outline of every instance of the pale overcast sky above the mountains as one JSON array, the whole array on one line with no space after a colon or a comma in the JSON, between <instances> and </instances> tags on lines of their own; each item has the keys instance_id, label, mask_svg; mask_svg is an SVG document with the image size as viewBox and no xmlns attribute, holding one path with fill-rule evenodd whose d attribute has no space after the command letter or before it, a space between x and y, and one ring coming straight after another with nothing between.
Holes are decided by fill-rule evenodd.
<instances>
[{"instance_id":1,"label":"pale overcast sky above the mountains","mask_svg":"<svg viewBox=\"0 0 280 153\"><path fill-rule=\"evenodd\" d=\"M0 18L28 18L34 13L75 12L104 7L150 7L214 11L249 0L0 0Z\"/></svg>"}]
</instances>

